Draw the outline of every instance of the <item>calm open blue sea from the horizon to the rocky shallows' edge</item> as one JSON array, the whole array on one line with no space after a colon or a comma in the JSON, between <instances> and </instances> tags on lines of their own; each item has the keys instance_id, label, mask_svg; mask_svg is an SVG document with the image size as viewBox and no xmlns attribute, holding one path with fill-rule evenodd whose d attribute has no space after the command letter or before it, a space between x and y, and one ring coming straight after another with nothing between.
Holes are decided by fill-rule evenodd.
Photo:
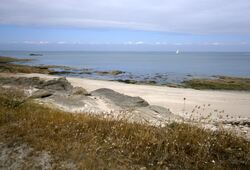
<instances>
[{"instance_id":1,"label":"calm open blue sea from the horizon to the rocky shallows' edge","mask_svg":"<svg viewBox=\"0 0 250 170\"><path fill-rule=\"evenodd\" d=\"M29 56L42 53L43 56ZM187 74L250 77L250 52L32 52L0 51L0 55L36 59L30 64L66 65L95 70L122 70L133 75Z\"/></svg>"}]
</instances>

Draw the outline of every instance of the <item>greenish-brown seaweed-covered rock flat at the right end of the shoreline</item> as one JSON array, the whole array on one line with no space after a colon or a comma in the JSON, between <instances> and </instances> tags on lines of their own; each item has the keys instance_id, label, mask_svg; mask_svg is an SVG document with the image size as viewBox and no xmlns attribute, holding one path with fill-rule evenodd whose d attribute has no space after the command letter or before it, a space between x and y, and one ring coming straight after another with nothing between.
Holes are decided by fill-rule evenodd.
<instances>
[{"instance_id":1,"label":"greenish-brown seaweed-covered rock flat at the right end of the shoreline","mask_svg":"<svg viewBox=\"0 0 250 170\"><path fill-rule=\"evenodd\" d=\"M250 78L219 76L215 79L192 79L184 87L213 90L250 90Z\"/></svg>"}]
</instances>

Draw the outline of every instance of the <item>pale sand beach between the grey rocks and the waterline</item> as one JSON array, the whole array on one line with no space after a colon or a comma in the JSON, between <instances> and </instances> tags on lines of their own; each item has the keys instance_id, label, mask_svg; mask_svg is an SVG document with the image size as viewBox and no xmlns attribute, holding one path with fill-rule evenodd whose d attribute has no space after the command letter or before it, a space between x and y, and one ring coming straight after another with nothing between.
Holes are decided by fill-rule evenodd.
<instances>
[{"instance_id":1,"label":"pale sand beach between the grey rocks and the waterline","mask_svg":"<svg viewBox=\"0 0 250 170\"><path fill-rule=\"evenodd\" d=\"M44 74L22 74L22 76L37 76L45 79L58 77ZM250 92L133 85L73 77L67 77L67 79L73 86L80 86L88 91L109 88L126 95L140 96L151 105L167 107L175 114L183 115L184 112L191 113L194 107L198 105L200 109L195 109L194 114L196 112L199 114L212 113L221 116L229 115L230 117L240 116L250 118ZM185 106L184 98L186 98Z\"/></svg>"}]
</instances>

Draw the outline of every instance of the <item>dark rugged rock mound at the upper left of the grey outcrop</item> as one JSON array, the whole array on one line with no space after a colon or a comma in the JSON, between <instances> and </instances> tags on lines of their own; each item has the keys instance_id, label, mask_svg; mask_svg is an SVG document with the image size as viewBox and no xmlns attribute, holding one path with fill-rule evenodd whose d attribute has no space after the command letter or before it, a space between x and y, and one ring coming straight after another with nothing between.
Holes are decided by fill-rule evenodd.
<instances>
[{"instance_id":1,"label":"dark rugged rock mound at the upper left of the grey outcrop","mask_svg":"<svg viewBox=\"0 0 250 170\"><path fill-rule=\"evenodd\" d=\"M68 80L63 77L59 79L53 79L46 81L42 86L42 89L56 90L56 91L71 91L73 86L68 82Z\"/></svg>"}]
</instances>

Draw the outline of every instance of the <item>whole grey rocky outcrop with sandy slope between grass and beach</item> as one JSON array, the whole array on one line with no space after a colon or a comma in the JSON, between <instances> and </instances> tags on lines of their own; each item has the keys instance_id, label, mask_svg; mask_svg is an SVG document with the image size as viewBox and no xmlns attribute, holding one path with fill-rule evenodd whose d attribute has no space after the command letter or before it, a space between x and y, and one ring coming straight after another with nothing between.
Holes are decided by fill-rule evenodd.
<instances>
[{"instance_id":1,"label":"whole grey rocky outcrop with sandy slope between grass and beach","mask_svg":"<svg viewBox=\"0 0 250 170\"><path fill-rule=\"evenodd\" d=\"M66 78L46 81L38 77L2 77L0 84L22 86L31 90L30 99L38 99L69 112L106 115L153 125L181 120L170 110L149 105L140 97L124 95L107 88L88 93L82 87L73 87Z\"/></svg>"}]
</instances>

